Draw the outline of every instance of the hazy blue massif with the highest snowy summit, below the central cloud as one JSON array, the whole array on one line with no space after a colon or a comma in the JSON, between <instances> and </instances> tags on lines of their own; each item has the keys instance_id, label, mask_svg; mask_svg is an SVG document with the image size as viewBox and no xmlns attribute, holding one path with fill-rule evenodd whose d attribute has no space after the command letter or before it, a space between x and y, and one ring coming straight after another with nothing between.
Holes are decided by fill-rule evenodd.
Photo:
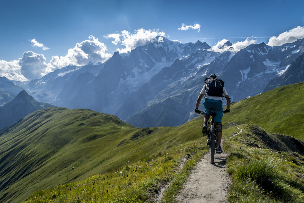
<instances>
[{"instance_id":1,"label":"hazy blue massif with the highest snowy summit, below the central cloud","mask_svg":"<svg viewBox=\"0 0 304 203\"><path fill-rule=\"evenodd\" d=\"M82 80L81 87L72 85L69 90L64 88L52 104L116 114L131 93L151 80L164 67L171 66L176 59L183 60L183 57L210 48L206 42L182 44L157 37L155 42L133 49L129 56L122 57L119 52L115 52L103 64L98 76L93 80L88 76L86 80ZM206 63L210 63L209 58L212 56L204 57L208 59ZM214 58L215 56L212 59ZM82 98L78 101L78 95L83 95L88 100Z\"/></svg>"}]
</instances>

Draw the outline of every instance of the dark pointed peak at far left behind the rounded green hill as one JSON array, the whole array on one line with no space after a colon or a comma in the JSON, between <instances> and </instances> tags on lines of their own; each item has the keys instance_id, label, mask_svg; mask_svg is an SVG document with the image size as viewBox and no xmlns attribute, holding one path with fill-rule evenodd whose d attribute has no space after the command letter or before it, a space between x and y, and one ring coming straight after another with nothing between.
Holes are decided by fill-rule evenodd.
<instances>
[{"instance_id":1,"label":"dark pointed peak at far left behind the rounded green hill","mask_svg":"<svg viewBox=\"0 0 304 203\"><path fill-rule=\"evenodd\" d=\"M0 130L16 123L29 113L47 107L55 106L37 102L32 96L29 96L25 90L22 90L12 101L0 107Z\"/></svg>"}]
</instances>

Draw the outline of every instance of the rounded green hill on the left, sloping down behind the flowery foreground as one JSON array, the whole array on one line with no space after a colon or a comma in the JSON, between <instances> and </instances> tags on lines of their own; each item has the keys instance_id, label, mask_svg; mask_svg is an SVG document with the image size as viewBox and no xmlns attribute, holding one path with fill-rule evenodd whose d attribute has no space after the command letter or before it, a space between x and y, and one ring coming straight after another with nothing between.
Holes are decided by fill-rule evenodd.
<instances>
[{"instance_id":1,"label":"rounded green hill on the left, sloping down behind the flowery foreground","mask_svg":"<svg viewBox=\"0 0 304 203\"><path fill-rule=\"evenodd\" d=\"M0 199L22 200L38 189L136 162L199 138L200 125L196 119L179 127L139 129L91 110L38 110L2 131Z\"/></svg>"}]
</instances>

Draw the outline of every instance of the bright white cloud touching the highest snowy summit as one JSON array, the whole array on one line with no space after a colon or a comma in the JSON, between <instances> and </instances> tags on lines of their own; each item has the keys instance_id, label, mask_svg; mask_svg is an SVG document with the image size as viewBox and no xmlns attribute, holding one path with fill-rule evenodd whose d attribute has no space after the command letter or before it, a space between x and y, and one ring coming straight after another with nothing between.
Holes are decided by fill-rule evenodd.
<instances>
[{"instance_id":1,"label":"bright white cloud touching the highest snowy summit","mask_svg":"<svg viewBox=\"0 0 304 203\"><path fill-rule=\"evenodd\" d=\"M114 38L115 40L112 43L116 45L123 46L124 48L116 50L120 53L130 52L132 49L135 49L138 46L146 45L149 42L156 41L157 36L165 36L164 32L159 32L157 30L145 30L143 28L134 30L133 33L123 30L120 34L109 34L106 35L106 38ZM158 41L162 41L163 37L159 37Z\"/></svg>"}]
</instances>

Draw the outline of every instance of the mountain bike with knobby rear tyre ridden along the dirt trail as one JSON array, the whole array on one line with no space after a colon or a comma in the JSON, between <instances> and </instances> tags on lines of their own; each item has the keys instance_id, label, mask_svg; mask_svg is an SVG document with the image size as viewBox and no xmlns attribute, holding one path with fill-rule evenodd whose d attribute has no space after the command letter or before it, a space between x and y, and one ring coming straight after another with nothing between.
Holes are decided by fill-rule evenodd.
<instances>
[{"instance_id":1,"label":"mountain bike with knobby rear tyre ridden along the dirt trail","mask_svg":"<svg viewBox=\"0 0 304 203\"><path fill-rule=\"evenodd\" d=\"M202 111L200 114L205 114L205 111ZM218 149L217 137L215 135L215 126L214 126L214 117L216 113L213 113L213 110L210 112L211 120L208 121L208 131L207 131L207 145L209 146L210 153L210 163L214 164L214 151ZM221 153L218 153L221 154Z\"/></svg>"}]
</instances>

